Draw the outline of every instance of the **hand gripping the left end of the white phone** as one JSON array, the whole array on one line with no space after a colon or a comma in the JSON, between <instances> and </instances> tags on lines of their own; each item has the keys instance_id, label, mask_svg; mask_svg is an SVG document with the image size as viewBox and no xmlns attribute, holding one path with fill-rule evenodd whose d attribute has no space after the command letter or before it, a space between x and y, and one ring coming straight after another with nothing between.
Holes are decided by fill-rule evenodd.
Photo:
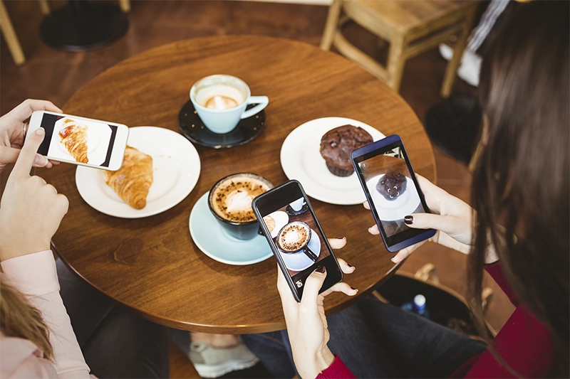
<instances>
[{"instance_id":1,"label":"hand gripping the left end of the white phone","mask_svg":"<svg viewBox=\"0 0 570 379\"><path fill-rule=\"evenodd\" d=\"M24 145L24 121L36 110L61 113L61 110L51 102L28 99L0 117L0 171L18 159L20 149ZM45 156L36 154L33 167L50 168L53 163L55 162L48 161Z\"/></svg>"}]
</instances>

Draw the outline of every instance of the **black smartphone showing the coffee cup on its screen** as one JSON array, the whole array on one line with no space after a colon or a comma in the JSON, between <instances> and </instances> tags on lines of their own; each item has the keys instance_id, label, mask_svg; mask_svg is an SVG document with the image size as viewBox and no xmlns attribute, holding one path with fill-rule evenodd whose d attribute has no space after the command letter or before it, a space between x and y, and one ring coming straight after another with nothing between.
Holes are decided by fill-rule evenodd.
<instances>
[{"instance_id":1,"label":"black smartphone showing the coffee cup on its screen","mask_svg":"<svg viewBox=\"0 0 570 379\"><path fill-rule=\"evenodd\" d=\"M297 301L305 280L326 267L321 291L343 279L331 246L299 181L288 181L254 198L252 208Z\"/></svg>"}]
</instances>

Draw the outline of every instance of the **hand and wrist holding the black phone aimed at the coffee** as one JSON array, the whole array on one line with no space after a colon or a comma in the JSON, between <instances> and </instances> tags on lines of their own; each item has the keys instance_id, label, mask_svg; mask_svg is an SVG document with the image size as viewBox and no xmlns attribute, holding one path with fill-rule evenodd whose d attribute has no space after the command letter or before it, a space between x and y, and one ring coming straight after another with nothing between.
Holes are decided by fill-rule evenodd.
<instances>
[{"instance_id":1,"label":"hand and wrist holding the black phone aimed at the coffee","mask_svg":"<svg viewBox=\"0 0 570 379\"><path fill-rule=\"evenodd\" d=\"M334 249L340 249L346 245L346 239L328 240L328 242ZM354 267L344 260L339 259L338 263L345 274L354 272ZM332 292L343 292L348 296L354 296L358 289L353 289L345 282L341 282L333 285L326 292L318 294L325 281L326 272L319 272L316 269L306 279L303 297L298 303L291 294L289 284L279 267L277 271L279 272L277 289L281 296L295 366L301 378L316 378L318 373L328 368L334 361L333 353L326 346L329 334L323 306L324 297Z\"/></svg>"}]
</instances>

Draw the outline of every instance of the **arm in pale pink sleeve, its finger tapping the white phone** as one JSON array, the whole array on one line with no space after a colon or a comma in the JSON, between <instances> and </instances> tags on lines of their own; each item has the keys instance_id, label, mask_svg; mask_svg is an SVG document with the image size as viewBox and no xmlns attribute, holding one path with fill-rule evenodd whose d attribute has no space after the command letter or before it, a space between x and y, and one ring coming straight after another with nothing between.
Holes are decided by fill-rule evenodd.
<instances>
[{"instance_id":1,"label":"arm in pale pink sleeve, its finger tapping the white phone","mask_svg":"<svg viewBox=\"0 0 570 379\"><path fill-rule=\"evenodd\" d=\"M28 136L6 182L0 201L1 267L9 283L41 311L58 377L87 379L89 368L59 295L56 264L49 250L69 203L42 178L30 176L44 137L42 128Z\"/></svg>"}]
</instances>

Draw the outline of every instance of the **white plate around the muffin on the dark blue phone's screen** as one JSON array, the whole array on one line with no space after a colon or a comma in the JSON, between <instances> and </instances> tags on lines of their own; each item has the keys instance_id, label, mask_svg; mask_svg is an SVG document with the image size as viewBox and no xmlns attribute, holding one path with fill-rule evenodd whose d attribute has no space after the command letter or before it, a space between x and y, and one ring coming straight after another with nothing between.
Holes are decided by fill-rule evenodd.
<instances>
[{"instance_id":1,"label":"white plate around the muffin on the dark blue phone's screen","mask_svg":"<svg viewBox=\"0 0 570 379\"><path fill-rule=\"evenodd\" d=\"M386 200L386 198L376 190L376 184L384 174L374 176L366 181L368 192L372 197L378 217L383 221L403 220L406 215L410 215L420 205L420 195L414 186L412 178L406 176L406 190L394 201Z\"/></svg>"}]
</instances>

